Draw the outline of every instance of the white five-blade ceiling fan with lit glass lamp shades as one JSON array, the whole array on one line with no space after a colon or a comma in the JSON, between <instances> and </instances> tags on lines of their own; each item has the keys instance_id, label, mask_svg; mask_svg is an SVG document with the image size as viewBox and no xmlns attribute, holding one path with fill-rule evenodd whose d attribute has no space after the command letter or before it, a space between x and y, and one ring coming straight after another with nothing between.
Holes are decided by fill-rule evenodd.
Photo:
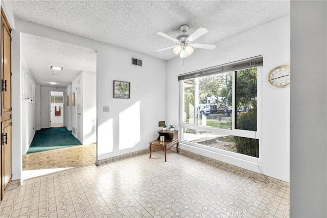
<instances>
[{"instance_id":1,"label":"white five-blade ceiling fan with lit glass lamp shades","mask_svg":"<svg viewBox=\"0 0 327 218\"><path fill-rule=\"evenodd\" d=\"M200 27L191 35L186 34L186 31L189 29L188 25L182 25L182 26L180 26L179 29L183 32L183 34L177 36L176 38L174 38L170 35L167 35L166 33L163 33L163 32L157 32L158 35L163 36L165 38L168 38L168 39L176 42L176 45L169 46L169 47L162 48L162 49L157 49L156 51L160 52L160 51L164 51L164 50L173 48L173 52L176 55L179 54L179 57L185 58L193 53L193 51L194 51L193 48L199 48L199 49L215 49L216 48L216 45L193 43L194 40L196 40L200 36L207 33L208 32L207 29Z\"/></svg>"}]
</instances>

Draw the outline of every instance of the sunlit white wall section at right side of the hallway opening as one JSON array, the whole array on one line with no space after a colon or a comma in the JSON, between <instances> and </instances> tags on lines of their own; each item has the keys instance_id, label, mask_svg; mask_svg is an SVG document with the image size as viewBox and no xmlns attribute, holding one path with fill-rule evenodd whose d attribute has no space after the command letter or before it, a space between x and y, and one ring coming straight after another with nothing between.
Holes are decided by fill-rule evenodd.
<instances>
[{"instance_id":1,"label":"sunlit white wall section at right side of the hallway opening","mask_svg":"<svg viewBox=\"0 0 327 218\"><path fill-rule=\"evenodd\" d=\"M82 72L83 145L97 141L97 73Z\"/></svg>"}]
</instances>

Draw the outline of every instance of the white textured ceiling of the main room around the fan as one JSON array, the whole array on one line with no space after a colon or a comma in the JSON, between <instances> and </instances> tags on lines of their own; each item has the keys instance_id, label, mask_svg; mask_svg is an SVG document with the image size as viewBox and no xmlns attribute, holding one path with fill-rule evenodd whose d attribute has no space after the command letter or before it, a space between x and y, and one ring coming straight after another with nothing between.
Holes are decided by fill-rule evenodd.
<instances>
[{"instance_id":1,"label":"white textured ceiling of the main room around the fan","mask_svg":"<svg viewBox=\"0 0 327 218\"><path fill-rule=\"evenodd\" d=\"M6 1L15 17L84 36L162 60L176 57L173 37L179 27L208 33L195 42L215 44L225 38L290 14L289 1ZM28 43L28 42L26 42ZM28 62L28 61L27 61Z\"/></svg>"}]
</instances>

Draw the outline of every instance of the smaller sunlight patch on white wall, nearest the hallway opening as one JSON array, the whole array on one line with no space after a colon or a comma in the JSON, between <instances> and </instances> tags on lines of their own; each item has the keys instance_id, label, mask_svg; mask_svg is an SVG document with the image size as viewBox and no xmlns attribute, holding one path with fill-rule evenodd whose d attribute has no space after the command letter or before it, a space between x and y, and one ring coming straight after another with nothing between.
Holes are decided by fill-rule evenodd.
<instances>
[{"instance_id":1,"label":"smaller sunlight patch on white wall, nearest the hallway opening","mask_svg":"<svg viewBox=\"0 0 327 218\"><path fill-rule=\"evenodd\" d=\"M112 118L98 127L98 156L113 150Z\"/></svg>"}]
</instances>

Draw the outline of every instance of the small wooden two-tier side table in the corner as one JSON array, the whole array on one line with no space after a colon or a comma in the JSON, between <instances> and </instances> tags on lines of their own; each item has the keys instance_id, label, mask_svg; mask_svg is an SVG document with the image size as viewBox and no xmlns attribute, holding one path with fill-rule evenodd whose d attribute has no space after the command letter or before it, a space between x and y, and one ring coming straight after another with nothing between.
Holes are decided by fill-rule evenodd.
<instances>
[{"instance_id":1,"label":"small wooden two-tier side table in the corner","mask_svg":"<svg viewBox=\"0 0 327 218\"><path fill-rule=\"evenodd\" d=\"M176 151L178 153L178 131L174 130L159 130L159 137L156 140L153 140L149 143L149 152L151 158L151 148L162 149L165 151L165 162L167 162L167 148L170 148L173 145L176 145ZM160 142L160 136L165 136L165 141Z\"/></svg>"}]
</instances>

